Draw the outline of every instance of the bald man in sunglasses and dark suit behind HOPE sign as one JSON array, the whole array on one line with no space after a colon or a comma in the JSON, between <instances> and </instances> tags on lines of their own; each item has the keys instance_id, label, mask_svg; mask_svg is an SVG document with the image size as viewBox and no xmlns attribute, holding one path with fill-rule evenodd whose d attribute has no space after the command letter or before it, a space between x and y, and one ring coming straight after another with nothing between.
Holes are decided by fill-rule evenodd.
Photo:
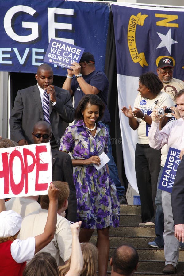
<instances>
[{"instance_id":1,"label":"bald man in sunglasses and dark suit behind HOPE sign","mask_svg":"<svg viewBox=\"0 0 184 276\"><path fill-rule=\"evenodd\" d=\"M45 121L38 121L33 128L34 144L48 143L51 140L51 126ZM73 165L69 154L51 148L52 153L52 181L68 182L70 195L66 210L67 220L76 222L77 198L73 179Z\"/></svg>"}]
</instances>

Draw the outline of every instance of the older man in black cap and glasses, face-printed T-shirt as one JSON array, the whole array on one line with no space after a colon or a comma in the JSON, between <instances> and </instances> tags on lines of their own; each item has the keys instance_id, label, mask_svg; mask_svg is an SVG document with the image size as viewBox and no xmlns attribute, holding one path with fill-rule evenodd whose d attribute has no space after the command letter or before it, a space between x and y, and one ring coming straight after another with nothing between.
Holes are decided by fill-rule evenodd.
<instances>
[{"instance_id":1,"label":"older man in black cap and glasses, face-printed T-shirt","mask_svg":"<svg viewBox=\"0 0 184 276\"><path fill-rule=\"evenodd\" d=\"M172 57L163 57L160 59L157 68L157 74L164 87L162 91L169 94L174 100L174 96L180 90L184 89L184 82L180 79L173 78L175 60ZM168 89L165 89L166 86ZM173 92L170 92L170 90Z\"/></svg>"}]
</instances>

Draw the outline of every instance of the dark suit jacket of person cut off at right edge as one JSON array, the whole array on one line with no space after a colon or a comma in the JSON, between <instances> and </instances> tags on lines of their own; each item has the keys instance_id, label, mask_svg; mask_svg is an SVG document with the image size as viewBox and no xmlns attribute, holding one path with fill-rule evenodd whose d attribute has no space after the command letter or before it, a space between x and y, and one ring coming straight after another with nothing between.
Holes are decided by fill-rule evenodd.
<instances>
[{"instance_id":1,"label":"dark suit jacket of person cut off at right edge","mask_svg":"<svg viewBox=\"0 0 184 276\"><path fill-rule=\"evenodd\" d=\"M174 225L184 224L184 155L178 166L171 194Z\"/></svg>"}]
</instances>

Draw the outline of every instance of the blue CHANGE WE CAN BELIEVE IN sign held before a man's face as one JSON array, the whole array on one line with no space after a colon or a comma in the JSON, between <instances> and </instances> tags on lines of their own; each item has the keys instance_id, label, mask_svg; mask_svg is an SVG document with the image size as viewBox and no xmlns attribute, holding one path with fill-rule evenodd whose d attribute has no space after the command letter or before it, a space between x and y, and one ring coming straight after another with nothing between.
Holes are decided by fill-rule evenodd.
<instances>
[{"instance_id":1,"label":"blue CHANGE WE CAN BELIEVE IN sign held before a man's face","mask_svg":"<svg viewBox=\"0 0 184 276\"><path fill-rule=\"evenodd\" d=\"M70 68L71 63L79 63L83 52L81 47L51 38L44 62Z\"/></svg>"}]
</instances>

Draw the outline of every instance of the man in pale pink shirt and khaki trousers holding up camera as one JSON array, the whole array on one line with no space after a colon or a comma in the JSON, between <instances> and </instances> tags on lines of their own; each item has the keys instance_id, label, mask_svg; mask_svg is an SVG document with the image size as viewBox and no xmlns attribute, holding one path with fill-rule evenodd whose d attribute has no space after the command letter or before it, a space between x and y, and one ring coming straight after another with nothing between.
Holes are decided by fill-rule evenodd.
<instances>
[{"instance_id":1,"label":"man in pale pink shirt and khaki trousers holding up camera","mask_svg":"<svg viewBox=\"0 0 184 276\"><path fill-rule=\"evenodd\" d=\"M181 118L174 120L159 130L160 115L156 109L151 113L152 124L148 134L149 145L154 149L160 149L167 144L167 153L170 147L182 150L184 148L184 139L181 133L184 131L184 89L180 90L174 97L177 109ZM176 111L175 107L171 107ZM175 112L176 113L176 112ZM182 159L183 151L181 151L180 159ZM175 274L178 257L179 257L179 241L174 236L174 223L171 208L171 193L162 191L162 207L164 213L164 253L166 266L163 273Z\"/></svg>"}]
</instances>

